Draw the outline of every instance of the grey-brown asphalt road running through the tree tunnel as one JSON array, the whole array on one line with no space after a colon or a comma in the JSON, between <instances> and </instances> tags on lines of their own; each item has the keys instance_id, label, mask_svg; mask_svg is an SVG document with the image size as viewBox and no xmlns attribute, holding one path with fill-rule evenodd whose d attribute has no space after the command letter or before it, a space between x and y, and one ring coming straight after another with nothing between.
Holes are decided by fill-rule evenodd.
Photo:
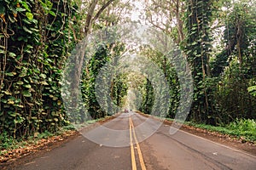
<instances>
[{"instance_id":1,"label":"grey-brown asphalt road running through the tree tunnel","mask_svg":"<svg viewBox=\"0 0 256 170\"><path fill-rule=\"evenodd\" d=\"M158 128L159 127L159 128ZM19 170L256 169L256 156L202 139L135 112L84 130L26 160Z\"/></svg>"}]
</instances>

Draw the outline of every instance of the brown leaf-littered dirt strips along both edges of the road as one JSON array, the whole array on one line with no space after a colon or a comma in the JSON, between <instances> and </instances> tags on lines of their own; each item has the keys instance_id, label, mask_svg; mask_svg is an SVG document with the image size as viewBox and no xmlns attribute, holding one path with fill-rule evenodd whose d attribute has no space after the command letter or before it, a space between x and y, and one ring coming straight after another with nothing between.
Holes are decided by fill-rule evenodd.
<instances>
[{"instance_id":1,"label":"brown leaf-littered dirt strips along both edges of the road","mask_svg":"<svg viewBox=\"0 0 256 170\"><path fill-rule=\"evenodd\" d=\"M101 120L99 123L102 124L104 122L108 122L112 120L115 116L108 117L107 119ZM164 121L166 125L171 125L171 121ZM96 123L90 124L88 128L96 126ZM86 127L87 128L87 127ZM196 136L200 136L201 138L211 140L218 144L224 144L230 148L234 148L237 150L243 150L247 153L256 156L256 144L252 142L244 142L243 139L238 139L236 137L232 137L230 135L225 135L222 133L209 132L206 129L192 127L189 125L183 125L181 130L192 133ZM19 163L24 158L30 159L37 154L42 154L42 152L46 152L49 150L53 150L54 148L60 146L61 144L65 144L68 141L77 138L80 135L79 132L75 130L68 130L60 135L56 135L53 137L49 137L47 139L38 139L33 144L27 144L25 146L19 147L15 150L6 150L0 156L0 167L5 167L13 163ZM1 169L1 168L0 168Z\"/></svg>"}]
</instances>

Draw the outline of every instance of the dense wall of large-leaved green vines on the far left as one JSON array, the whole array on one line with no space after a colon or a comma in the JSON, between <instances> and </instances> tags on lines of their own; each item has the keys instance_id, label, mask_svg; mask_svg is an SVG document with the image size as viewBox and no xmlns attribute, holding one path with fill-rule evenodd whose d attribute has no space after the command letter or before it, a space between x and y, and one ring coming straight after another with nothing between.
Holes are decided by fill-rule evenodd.
<instances>
[{"instance_id":1,"label":"dense wall of large-leaved green vines on the far left","mask_svg":"<svg viewBox=\"0 0 256 170\"><path fill-rule=\"evenodd\" d=\"M63 0L0 3L0 133L53 131L66 122L61 68L76 38L76 6Z\"/></svg>"}]
</instances>

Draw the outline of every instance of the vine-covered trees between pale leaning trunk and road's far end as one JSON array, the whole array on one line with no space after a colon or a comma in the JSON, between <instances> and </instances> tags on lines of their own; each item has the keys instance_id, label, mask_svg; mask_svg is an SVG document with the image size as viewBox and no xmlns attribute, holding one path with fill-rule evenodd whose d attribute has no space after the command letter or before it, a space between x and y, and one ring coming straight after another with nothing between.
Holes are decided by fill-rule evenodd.
<instances>
[{"instance_id":1,"label":"vine-covered trees between pale leaning trunk and road's far end","mask_svg":"<svg viewBox=\"0 0 256 170\"><path fill-rule=\"evenodd\" d=\"M110 53L111 49L113 49L113 54ZM117 108L112 106L112 102L119 107L122 107L125 103L124 97L127 94L127 78L125 74L113 74L114 69L116 69L114 65L108 68L104 67L108 62L118 62L118 59L113 57L115 54L119 54L122 49L121 45L99 45L96 54L90 59L88 67L84 69L82 91L85 109L93 119L110 116L119 112ZM102 69L102 67L104 67L105 70ZM99 72L101 72L101 74ZM108 79L108 77L111 77L111 79ZM96 78L100 79L100 83L109 86L102 87L101 84L96 83ZM108 88L110 88L110 90ZM99 100L97 96L103 99L101 105L98 103Z\"/></svg>"}]
</instances>

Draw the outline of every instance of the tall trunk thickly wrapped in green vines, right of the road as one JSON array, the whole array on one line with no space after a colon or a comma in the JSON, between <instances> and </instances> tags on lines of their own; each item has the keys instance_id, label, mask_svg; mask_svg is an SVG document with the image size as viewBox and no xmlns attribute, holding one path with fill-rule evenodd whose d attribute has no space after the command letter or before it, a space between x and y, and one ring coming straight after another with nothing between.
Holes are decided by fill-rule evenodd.
<instances>
[{"instance_id":1,"label":"tall trunk thickly wrapped in green vines, right of the road","mask_svg":"<svg viewBox=\"0 0 256 170\"><path fill-rule=\"evenodd\" d=\"M212 0L187 0L186 34L184 50L191 66L195 89L191 117L195 121L207 120L212 111L207 77L211 77L209 59L211 52L210 23Z\"/></svg>"}]
</instances>

